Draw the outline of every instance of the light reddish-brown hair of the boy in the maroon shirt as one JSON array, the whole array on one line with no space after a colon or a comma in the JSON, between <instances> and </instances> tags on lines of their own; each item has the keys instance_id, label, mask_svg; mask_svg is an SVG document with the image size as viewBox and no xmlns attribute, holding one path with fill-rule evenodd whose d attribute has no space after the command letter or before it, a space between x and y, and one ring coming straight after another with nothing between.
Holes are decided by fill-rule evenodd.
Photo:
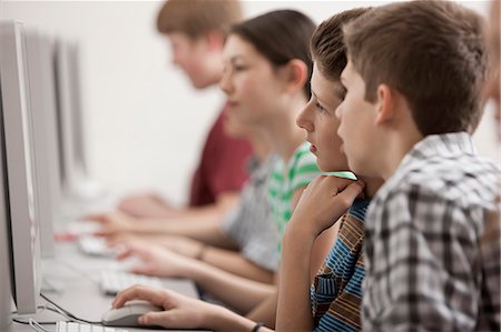
<instances>
[{"instance_id":1,"label":"light reddish-brown hair of the boy in the maroon shirt","mask_svg":"<svg viewBox=\"0 0 501 332\"><path fill-rule=\"evenodd\" d=\"M157 17L160 33L183 32L198 39L209 31L226 36L243 19L237 0L168 0Z\"/></svg>"}]
</instances>

